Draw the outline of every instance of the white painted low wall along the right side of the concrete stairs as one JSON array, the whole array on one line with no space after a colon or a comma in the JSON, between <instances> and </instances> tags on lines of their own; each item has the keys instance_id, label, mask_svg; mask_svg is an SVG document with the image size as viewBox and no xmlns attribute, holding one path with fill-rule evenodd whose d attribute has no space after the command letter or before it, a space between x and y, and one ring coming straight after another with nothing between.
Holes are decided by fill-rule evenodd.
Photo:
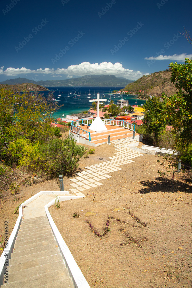
<instances>
[{"instance_id":1,"label":"white painted low wall along the right side of the concrete stairs","mask_svg":"<svg viewBox=\"0 0 192 288\"><path fill-rule=\"evenodd\" d=\"M64 200L70 200L70 199L78 199L83 196L61 196L59 198L59 201ZM57 229L57 226L55 225L55 222L53 221L53 218L51 217L51 214L49 213L48 207L55 204L55 199L51 200L47 205L45 205L45 213L47 215L47 218L49 220L49 224L51 226L51 229L53 231L53 234L55 236L55 239L57 241L57 244L59 246L60 252L62 253L62 257L65 261L66 267L68 268L69 274L72 278L73 284L75 288L90 288L89 284L87 283L87 280L83 276L80 268L78 267L77 263L75 262L75 259L73 258L73 255L71 254L69 248L67 247L65 241L63 240L59 230Z\"/></svg>"}]
</instances>

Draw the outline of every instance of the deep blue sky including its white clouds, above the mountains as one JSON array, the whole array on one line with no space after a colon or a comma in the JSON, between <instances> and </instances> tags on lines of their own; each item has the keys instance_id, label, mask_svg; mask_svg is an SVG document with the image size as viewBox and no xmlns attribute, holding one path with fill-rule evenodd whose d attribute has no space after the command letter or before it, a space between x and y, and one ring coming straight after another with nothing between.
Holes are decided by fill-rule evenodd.
<instances>
[{"instance_id":1,"label":"deep blue sky including its white clouds, above the mountains","mask_svg":"<svg viewBox=\"0 0 192 288\"><path fill-rule=\"evenodd\" d=\"M0 2L0 81L114 74L136 80L192 57L183 0ZM161 56L162 55L162 56Z\"/></svg>"}]
</instances>

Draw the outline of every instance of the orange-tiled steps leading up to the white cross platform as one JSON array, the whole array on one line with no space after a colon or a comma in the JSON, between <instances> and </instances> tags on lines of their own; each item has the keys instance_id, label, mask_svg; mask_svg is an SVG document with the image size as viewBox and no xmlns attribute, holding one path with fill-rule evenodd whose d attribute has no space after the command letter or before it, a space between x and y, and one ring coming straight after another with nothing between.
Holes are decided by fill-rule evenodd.
<instances>
[{"instance_id":1,"label":"orange-tiled steps leading up to the white cross platform","mask_svg":"<svg viewBox=\"0 0 192 288\"><path fill-rule=\"evenodd\" d=\"M124 128L116 128L112 130L103 131L101 133L93 132L91 133L90 142L94 144L107 143L109 135L110 135L110 141L115 141L118 139L133 137L133 131ZM139 134L135 133L135 136L136 135Z\"/></svg>"}]
</instances>

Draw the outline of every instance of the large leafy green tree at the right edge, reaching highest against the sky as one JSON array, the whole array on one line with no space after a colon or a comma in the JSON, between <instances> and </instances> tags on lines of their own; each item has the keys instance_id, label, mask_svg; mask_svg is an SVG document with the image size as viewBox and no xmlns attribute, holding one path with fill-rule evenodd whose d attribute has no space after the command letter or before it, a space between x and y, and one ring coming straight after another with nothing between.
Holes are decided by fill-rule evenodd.
<instances>
[{"instance_id":1,"label":"large leafy green tree at the right edge, reaching highest against the sky","mask_svg":"<svg viewBox=\"0 0 192 288\"><path fill-rule=\"evenodd\" d=\"M176 142L180 140L185 145L192 142L192 59L185 59L184 64L170 63L172 70L171 82L178 90L168 97L163 94L164 120L170 123L178 134Z\"/></svg>"}]
</instances>

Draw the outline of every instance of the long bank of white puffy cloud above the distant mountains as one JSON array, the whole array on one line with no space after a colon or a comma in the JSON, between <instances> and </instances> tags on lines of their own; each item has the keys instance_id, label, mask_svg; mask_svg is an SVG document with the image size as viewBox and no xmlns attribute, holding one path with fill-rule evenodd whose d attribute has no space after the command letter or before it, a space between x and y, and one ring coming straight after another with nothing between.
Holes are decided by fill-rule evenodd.
<instances>
[{"instance_id":1,"label":"long bank of white puffy cloud above the distant mountains","mask_svg":"<svg viewBox=\"0 0 192 288\"><path fill-rule=\"evenodd\" d=\"M6 76L17 76L17 75L28 75L28 74L43 74L57 77L60 75L64 75L67 78L84 76L84 75L102 75L109 74L115 75L116 77L124 77L131 80L137 80L143 75L149 75L149 73L141 73L140 71L134 71L131 69L126 69L120 63L111 63L111 62L103 62L103 63L94 63L91 64L89 62L82 62L78 65L71 65L68 68L57 68L56 70L53 68L39 68L37 70L31 70L27 68L13 68L9 67L5 71L3 71L4 67L0 69L0 75Z\"/></svg>"}]
</instances>

